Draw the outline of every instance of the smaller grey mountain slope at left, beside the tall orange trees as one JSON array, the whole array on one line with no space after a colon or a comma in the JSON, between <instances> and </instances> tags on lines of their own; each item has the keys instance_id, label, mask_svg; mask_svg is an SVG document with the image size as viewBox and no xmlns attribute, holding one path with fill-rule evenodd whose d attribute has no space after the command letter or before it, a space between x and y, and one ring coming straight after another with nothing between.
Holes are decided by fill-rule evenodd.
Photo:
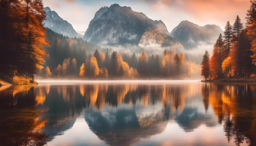
<instances>
[{"instance_id":1,"label":"smaller grey mountain slope at left, beside the tall orange trees","mask_svg":"<svg viewBox=\"0 0 256 146\"><path fill-rule=\"evenodd\" d=\"M55 11L51 11L49 7L45 7L44 11L46 12L46 20L44 20L44 26L48 27L49 29L52 29L56 33L61 33L63 35L66 35L70 38L81 38L83 35L77 33L72 25L67 22L66 20L63 20L58 13Z\"/></svg>"}]
</instances>

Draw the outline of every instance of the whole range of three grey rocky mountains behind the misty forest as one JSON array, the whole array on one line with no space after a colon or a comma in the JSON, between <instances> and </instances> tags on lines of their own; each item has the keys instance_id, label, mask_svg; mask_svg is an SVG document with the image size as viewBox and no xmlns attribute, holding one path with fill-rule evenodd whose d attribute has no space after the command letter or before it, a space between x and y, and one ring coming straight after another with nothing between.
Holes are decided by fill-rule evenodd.
<instances>
[{"instance_id":1,"label":"whole range of three grey rocky mountains behind the misty forest","mask_svg":"<svg viewBox=\"0 0 256 146\"><path fill-rule=\"evenodd\" d=\"M55 11L45 7L45 27L68 37L81 37L72 25L63 20ZM90 21L83 40L100 46L160 44L161 46L180 46L194 49L202 44L213 44L218 35L223 33L217 25L197 24L184 20L168 32L162 20L152 20L144 13L132 11L130 7L112 4L101 7Z\"/></svg>"}]
</instances>

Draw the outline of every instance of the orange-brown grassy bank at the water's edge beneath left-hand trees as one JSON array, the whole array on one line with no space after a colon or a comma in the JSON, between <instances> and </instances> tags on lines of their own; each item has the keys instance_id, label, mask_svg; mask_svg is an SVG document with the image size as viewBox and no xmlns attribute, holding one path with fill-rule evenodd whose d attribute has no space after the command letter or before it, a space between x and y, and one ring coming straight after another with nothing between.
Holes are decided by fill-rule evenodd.
<instances>
[{"instance_id":1,"label":"orange-brown grassy bank at the water's edge beneath left-hand trees","mask_svg":"<svg viewBox=\"0 0 256 146\"><path fill-rule=\"evenodd\" d=\"M0 79L0 86L5 85L30 85L38 84L35 80L27 79L26 77L13 77L13 78L2 78Z\"/></svg>"}]
</instances>

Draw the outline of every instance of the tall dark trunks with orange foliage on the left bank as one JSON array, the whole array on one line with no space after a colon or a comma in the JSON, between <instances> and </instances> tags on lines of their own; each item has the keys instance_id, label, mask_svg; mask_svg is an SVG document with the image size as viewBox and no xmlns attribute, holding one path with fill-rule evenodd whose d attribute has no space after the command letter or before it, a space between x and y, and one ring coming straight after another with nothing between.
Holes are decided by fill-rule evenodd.
<instances>
[{"instance_id":1,"label":"tall dark trunks with orange foliage on the left bank","mask_svg":"<svg viewBox=\"0 0 256 146\"><path fill-rule=\"evenodd\" d=\"M0 76L23 76L34 80L43 69L48 46L42 0L1 0Z\"/></svg>"}]
</instances>

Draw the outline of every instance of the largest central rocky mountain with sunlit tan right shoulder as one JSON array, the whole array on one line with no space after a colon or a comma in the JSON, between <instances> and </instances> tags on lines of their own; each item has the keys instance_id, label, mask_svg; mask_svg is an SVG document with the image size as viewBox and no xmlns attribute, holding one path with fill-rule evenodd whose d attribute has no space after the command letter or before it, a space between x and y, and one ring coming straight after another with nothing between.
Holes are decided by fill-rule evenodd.
<instances>
[{"instance_id":1,"label":"largest central rocky mountain with sunlit tan right shoulder","mask_svg":"<svg viewBox=\"0 0 256 146\"><path fill-rule=\"evenodd\" d=\"M153 37L155 34L157 38ZM175 41L168 35L168 30L161 20L151 20L144 13L132 11L130 7L112 4L95 13L83 39L100 45L146 45L151 42L161 44L166 42L166 39Z\"/></svg>"}]
</instances>

